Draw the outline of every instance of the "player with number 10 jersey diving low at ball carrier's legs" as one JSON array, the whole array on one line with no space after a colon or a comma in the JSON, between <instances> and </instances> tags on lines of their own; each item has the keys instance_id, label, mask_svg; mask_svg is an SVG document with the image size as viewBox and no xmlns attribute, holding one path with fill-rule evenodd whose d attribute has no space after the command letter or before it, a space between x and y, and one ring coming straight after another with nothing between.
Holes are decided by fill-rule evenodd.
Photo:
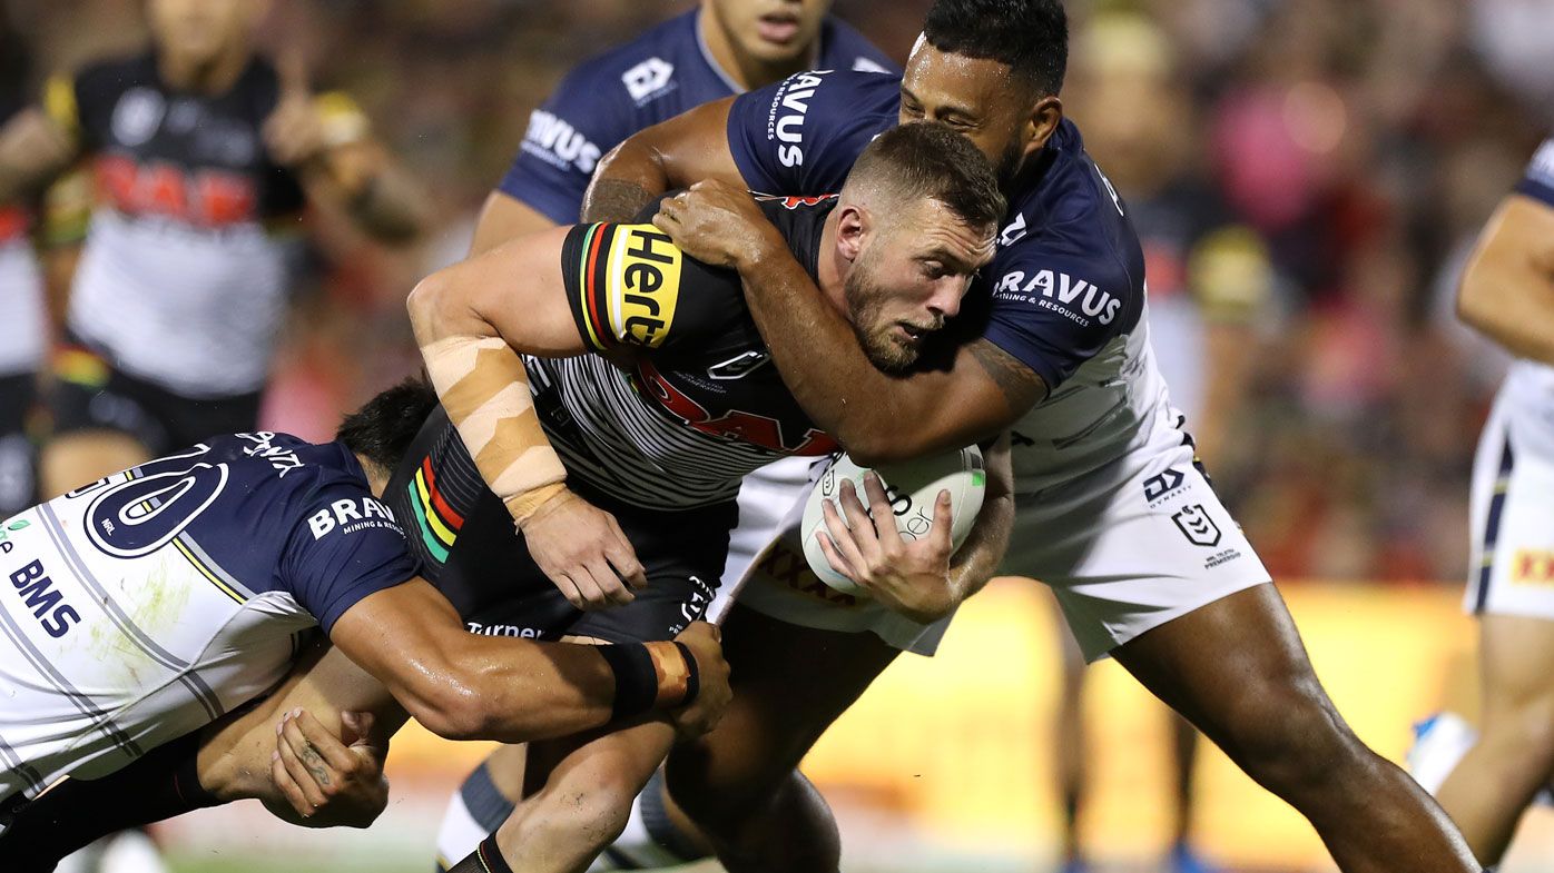
<instances>
[{"instance_id":1,"label":"player with number 10 jersey diving low at ball carrier's legs","mask_svg":"<svg viewBox=\"0 0 1554 873\"><path fill-rule=\"evenodd\" d=\"M716 719L727 674L707 624L637 646L482 637L415 576L404 530L379 497L434 404L409 382L348 416L334 443L214 436L3 522L8 870L48 870L62 854L36 830L51 826L48 808L61 802L50 792L31 809L30 800L65 775L137 770L146 755L191 763L199 729L281 680L311 628L343 656L325 656L311 680L375 715L384 741L407 713L441 736L513 743L650 711L695 730ZM303 721L317 732L312 716L286 730L295 738ZM291 749L283 743L261 769L311 784L317 755ZM208 786L191 777L193 767L162 783L171 797L134 791L145 802L134 814L202 797ZM110 784L120 798L145 788Z\"/></svg>"}]
</instances>

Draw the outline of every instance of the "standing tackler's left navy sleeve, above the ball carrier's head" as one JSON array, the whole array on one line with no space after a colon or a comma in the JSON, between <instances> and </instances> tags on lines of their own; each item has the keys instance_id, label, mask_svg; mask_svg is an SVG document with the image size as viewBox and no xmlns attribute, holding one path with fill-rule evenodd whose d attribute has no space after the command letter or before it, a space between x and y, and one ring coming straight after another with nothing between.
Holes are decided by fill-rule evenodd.
<instances>
[{"instance_id":1,"label":"standing tackler's left navy sleeve, above the ball carrier's head","mask_svg":"<svg viewBox=\"0 0 1554 873\"><path fill-rule=\"evenodd\" d=\"M900 78L850 70L796 73L729 107L729 151L763 194L839 191L853 162L897 123Z\"/></svg>"}]
</instances>

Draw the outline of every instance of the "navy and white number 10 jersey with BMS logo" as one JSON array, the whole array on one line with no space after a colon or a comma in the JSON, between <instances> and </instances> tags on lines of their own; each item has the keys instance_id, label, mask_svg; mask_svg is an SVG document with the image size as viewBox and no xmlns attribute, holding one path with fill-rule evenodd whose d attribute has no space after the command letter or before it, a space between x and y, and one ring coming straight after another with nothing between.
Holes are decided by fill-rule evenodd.
<instances>
[{"instance_id":1,"label":"navy and white number 10 jersey with BMS logo","mask_svg":"<svg viewBox=\"0 0 1554 873\"><path fill-rule=\"evenodd\" d=\"M0 523L0 798L95 778L280 682L413 576L345 446L214 436Z\"/></svg>"}]
</instances>

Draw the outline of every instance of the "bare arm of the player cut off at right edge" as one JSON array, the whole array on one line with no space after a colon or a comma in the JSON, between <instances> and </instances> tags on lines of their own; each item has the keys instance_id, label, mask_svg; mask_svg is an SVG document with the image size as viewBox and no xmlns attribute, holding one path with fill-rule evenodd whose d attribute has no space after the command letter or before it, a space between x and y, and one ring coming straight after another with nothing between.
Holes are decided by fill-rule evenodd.
<instances>
[{"instance_id":1,"label":"bare arm of the player cut off at right edge","mask_svg":"<svg viewBox=\"0 0 1554 873\"><path fill-rule=\"evenodd\" d=\"M1518 357L1554 365L1554 207L1507 197L1458 287L1458 315Z\"/></svg>"}]
</instances>

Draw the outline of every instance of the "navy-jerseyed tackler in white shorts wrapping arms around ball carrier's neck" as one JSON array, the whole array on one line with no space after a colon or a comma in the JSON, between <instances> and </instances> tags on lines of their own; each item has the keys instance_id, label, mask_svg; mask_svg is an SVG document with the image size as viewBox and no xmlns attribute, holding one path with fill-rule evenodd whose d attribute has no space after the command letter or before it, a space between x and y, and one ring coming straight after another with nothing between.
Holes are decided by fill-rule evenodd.
<instances>
[{"instance_id":1,"label":"navy-jerseyed tackler in white shorts wrapping arms around ball carrier's neck","mask_svg":"<svg viewBox=\"0 0 1554 873\"><path fill-rule=\"evenodd\" d=\"M1340 868L1478 870L1433 800L1336 713L1197 468L1148 346L1127 205L1063 120L1064 62L1055 0L940 0L903 79L800 73L650 127L601 162L594 191L608 197L586 216L723 180L665 200L654 224L693 256L740 270L772 360L819 427L875 461L1010 429L1021 534L1001 572L1052 586L1086 659L1110 654L1187 716L1299 809ZM834 188L870 137L917 120L976 143L1013 208L968 301L985 311L962 314L981 318L981 337L945 368L884 376L743 191ZM876 604L842 607L788 586L772 570L791 548L789 537L757 564L724 624L733 708L667 770L733 871L834 870L834 834L803 830L825 819L772 816L774 798L793 797L783 786L803 752L912 642L875 628L895 618ZM810 856L793 859L799 851Z\"/></svg>"}]
</instances>

